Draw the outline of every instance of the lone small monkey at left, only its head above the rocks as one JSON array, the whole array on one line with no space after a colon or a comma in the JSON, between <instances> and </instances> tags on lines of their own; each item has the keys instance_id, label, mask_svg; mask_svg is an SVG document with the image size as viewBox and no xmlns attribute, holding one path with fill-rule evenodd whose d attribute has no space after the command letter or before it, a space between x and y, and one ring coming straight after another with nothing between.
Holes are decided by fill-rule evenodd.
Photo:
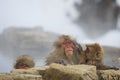
<instances>
[{"instance_id":1,"label":"lone small monkey at left, only its head above the rocks","mask_svg":"<svg viewBox=\"0 0 120 80\"><path fill-rule=\"evenodd\" d=\"M19 56L14 64L15 69L27 69L35 66L34 60L28 55Z\"/></svg>"}]
</instances>

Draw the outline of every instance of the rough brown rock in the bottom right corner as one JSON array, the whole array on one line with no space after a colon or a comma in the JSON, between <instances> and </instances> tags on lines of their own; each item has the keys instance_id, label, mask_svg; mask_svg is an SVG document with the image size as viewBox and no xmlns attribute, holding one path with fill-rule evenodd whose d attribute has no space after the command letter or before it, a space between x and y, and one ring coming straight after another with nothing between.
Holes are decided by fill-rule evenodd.
<instances>
[{"instance_id":1,"label":"rough brown rock in the bottom right corner","mask_svg":"<svg viewBox=\"0 0 120 80\"><path fill-rule=\"evenodd\" d=\"M97 74L99 80L120 80L120 70L100 70Z\"/></svg>"}]
</instances>

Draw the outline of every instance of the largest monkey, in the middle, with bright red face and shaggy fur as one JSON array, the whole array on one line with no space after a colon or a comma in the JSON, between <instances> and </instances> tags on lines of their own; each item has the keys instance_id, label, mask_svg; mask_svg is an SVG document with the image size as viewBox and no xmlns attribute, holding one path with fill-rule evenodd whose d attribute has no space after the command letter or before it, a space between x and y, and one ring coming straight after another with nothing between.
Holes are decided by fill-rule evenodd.
<instances>
[{"instance_id":1,"label":"largest monkey, in the middle, with bright red face and shaggy fur","mask_svg":"<svg viewBox=\"0 0 120 80\"><path fill-rule=\"evenodd\" d=\"M47 65L51 63L63 65L85 63L82 47L70 36L59 36L58 40L54 42L54 47L55 49L46 59Z\"/></svg>"}]
</instances>

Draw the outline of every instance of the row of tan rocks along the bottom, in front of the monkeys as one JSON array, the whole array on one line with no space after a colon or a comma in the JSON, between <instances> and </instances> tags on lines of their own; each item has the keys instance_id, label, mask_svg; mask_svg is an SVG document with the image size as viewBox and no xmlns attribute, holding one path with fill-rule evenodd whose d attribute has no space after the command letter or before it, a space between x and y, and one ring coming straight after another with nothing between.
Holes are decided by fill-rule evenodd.
<instances>
[{"instance_id":1,"label":"row of tan rocks along the bottom, in front of the monkeys","mask_svg":"<svg viewBox=\"0 0 120 80\"><path fill-rule=\"evenodd\" d=\"M0 73L0 80L120 80L120 70L99 70L90 65L51 64Z\"/></svg>"}]
</instances>

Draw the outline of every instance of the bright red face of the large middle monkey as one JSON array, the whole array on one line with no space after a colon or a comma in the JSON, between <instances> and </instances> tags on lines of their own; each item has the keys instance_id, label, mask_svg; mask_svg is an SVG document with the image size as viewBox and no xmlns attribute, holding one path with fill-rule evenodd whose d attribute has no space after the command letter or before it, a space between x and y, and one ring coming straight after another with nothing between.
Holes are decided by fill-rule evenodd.
<instances>
[{"instance_id":1,"label":"bright red face of the large middle monkey","mask_svg":"<svg viewBox=\"0 0 120 80\"><path fill-rule=\"evenodd\" d=\"M73 42L72 41L64 41L62 43L62 47L65 49L65 52L69 53L73 51Z\"/></svg>"}]
</instances>

